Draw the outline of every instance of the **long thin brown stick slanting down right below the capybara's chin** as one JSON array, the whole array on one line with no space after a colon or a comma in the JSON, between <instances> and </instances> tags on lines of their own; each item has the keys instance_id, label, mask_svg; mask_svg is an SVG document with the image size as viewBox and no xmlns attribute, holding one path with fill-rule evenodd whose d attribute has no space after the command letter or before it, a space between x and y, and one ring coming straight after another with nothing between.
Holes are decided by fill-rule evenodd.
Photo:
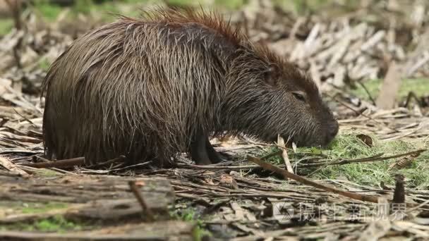
<instances>
[{"instance_id":1,"label":"long thin brown stick slanting down right below the capybara's chin","mask_svg":"<svg viewBox=\"0 0 429 241\"><path fill-rule=\"evenodd\" d=\"M320 183L315 183L312 180L309 180L307 178L301 177L300 175L296 175L294 173L289 173L288 171L283 170L282 168L278 168L277 166L273 166L270 163L266 163L266 162L264 162L261 159L258 159L256 157L247 156L247 159L249 161L257 163L259 166L262 166L262 168L264 168L266 170L272 171L274 173L281 174L285 178L291 178L292 180L296 180L297 182L303 183L305 185L310 185L310 186L319 188L321 190L325 190L327 192L333 192L333 193L336 193L336 194L340 194L340 195L343 195L344 197L349 197L351 199L356 199L356 200L360 200L360 201L364 201L364 202L374 202L374 203L378 202L378 197L377 196L358 194L358 193L354 193L354 192L346 192L346 191L339 190L339 189L334 188L334 187L329 187L327 185L322 185Z\"/></svg>"}]
</instances>

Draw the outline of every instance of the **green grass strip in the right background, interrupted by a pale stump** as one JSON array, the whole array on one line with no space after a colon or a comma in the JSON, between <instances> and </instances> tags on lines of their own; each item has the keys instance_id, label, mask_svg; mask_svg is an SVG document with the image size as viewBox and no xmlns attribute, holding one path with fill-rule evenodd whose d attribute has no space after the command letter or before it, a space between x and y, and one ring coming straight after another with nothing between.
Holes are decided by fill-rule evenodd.
<instances>
[{"instance_id":1,"label":"green grass strip in the right background, interrupted by a pale stump","mask_svg":"<svg viewBox=\"0 0 429 241\"><path fill-rule=\"evenodd\" d=\"M380 89L382 87L382 80L368 80L363 82L366 89L368 89L369 94L373 99L377 99ZM399 87L398 97L403 100L409 94L409 92L414 92L418 97L429 94L429 79L428 78L419 78L419 79L404 79L401 82ZM356 97L369 100L368 93L365 92L365 89L361 85L357 84L356 89L351 89L351 93Z\"/></svg>"}]
</instances>

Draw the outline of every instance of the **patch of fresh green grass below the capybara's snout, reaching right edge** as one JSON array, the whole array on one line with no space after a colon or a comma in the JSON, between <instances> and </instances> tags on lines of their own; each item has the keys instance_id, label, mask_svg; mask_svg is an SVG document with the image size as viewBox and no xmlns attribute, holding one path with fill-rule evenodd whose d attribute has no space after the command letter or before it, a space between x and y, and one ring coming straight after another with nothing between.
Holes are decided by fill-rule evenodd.
<instances>
[{"instance_id":1,"label":"patch of fresh green grass below the capybara's snout, reaching right edge","mask_svg":"<svg viewBox=\"0 0 429 241\"><path fill-rule=\"evenodd\" d=\"M306 159L312 156L321 156L327 161L337 159L358 159L363 157L375 156L384 153L384 156L402 154L416 149L429 149L429 143L423 143L421 140L414 142L404 140L382 141L371 136L373 147L368 147L356 135L358 132L344 132L326 149L319 148L298 148L296 154L289 151L289 157L292 162L300 161L306 163ZM273 149L267 152L272 152ZM264 153L264 155L267 153ZM389 159L386 161L373 161L368 163L349 163L344 165L330 165L320 168L314 173L312 179L346 179L360 185L376 187L380 182L388 185L394 185L394 175L401 173L406 177L406 186L418 190L426 190L429 187L429 152L423 152L406 168L389 169L389 165L398 159ZM279 157L269 159L274 164L282 163ZM308 174L315 171L315 168L302 168L298 173Z\"/></svg>"}]
</instances>

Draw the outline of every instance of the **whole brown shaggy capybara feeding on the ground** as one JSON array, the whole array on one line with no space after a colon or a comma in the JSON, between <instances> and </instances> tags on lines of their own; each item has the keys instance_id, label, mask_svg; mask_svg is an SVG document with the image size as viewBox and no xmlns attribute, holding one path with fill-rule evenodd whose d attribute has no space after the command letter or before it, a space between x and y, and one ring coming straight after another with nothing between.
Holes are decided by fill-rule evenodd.
<instances>
[{"instance_id":1,"label":"whole brown shaggy capybara feeding on the ground","mask_svg":"<svg viewBox=\"0 0 429 241\"><path fill-rule=\"evenodd\" d=\"M45 152L92 163L216 163L209 135L325 145L338 124L308 75L216 13L121 16L76 39L43 83Z\"/></svg>"}]
</instances>

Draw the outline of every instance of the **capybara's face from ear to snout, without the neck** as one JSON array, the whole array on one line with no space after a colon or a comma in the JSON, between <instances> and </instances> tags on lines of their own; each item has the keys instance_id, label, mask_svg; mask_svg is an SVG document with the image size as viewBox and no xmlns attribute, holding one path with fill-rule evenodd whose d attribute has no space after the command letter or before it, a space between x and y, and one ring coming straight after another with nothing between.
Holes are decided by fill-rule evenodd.
<instances>
[{"instance_id":1,"label":"capybara's face from ear to snout, without the neck","mask_svg":"<svg viewBox=\"0 0 429 241\"><path fill-rule=\"evenodd\" d=\"M324 146L334 139L337 120L308 75L281 61L270 65L264 81L272 97L270 120L277 121L270 121L271 135L278 133L300 146Z\"/></svg>"}]
</instances>

